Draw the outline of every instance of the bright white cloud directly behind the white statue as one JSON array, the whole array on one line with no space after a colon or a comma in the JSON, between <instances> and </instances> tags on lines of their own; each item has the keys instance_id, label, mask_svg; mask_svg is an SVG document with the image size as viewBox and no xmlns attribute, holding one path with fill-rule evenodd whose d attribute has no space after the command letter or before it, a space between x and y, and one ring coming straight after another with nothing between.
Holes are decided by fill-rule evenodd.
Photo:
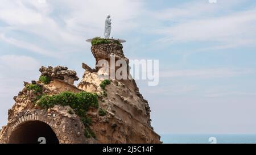
<instances>
[{"instance_id":1,"label":"bright white cloud directly behind the white statue","mask_svg":"<svg viewBox=\"0 0 256 155\"><path fill-rule=\"evenodd\" d=\"M59 2L59 1L58 1ZM110 0L110 1L61 1L66 9L72 10L63 15L67 28L86 33L102 35L105 18L112 15L113 33L131 30L137 27L135 19L143 10L142 1ZM97 9L97 11L96 11Z\"/></svg>"}]
</instances>

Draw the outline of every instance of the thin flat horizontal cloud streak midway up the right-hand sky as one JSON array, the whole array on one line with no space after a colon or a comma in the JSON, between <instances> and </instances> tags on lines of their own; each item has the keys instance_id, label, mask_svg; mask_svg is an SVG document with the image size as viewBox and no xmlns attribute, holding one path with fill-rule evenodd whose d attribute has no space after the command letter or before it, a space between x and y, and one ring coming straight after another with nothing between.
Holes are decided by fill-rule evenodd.
<instances>
[{"instance_id":1,"label":"thin flat horizontal cloud streak midway up the right-hand sky","mask_svg":"<svg viewBox=\"0 0 256 155\"><path fill-rule=\"evenodd\" d=\"M253 73L250 69L188 69L188 70L171 70L166 72L160 72L159 76L162 78L222 78L222 77L234 77L241 74Z\"/></svg>"}]
</instances>

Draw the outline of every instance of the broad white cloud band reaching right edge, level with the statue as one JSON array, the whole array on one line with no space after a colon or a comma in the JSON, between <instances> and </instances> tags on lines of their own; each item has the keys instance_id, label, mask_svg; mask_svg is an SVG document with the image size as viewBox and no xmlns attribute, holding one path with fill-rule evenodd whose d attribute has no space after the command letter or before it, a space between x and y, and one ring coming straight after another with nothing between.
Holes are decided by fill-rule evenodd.
<instances>
[{"instance_id":1,"label":"broad white cloud band reaching right edge, level with the statue","mask_svg":"<svg viewBox=\"0 0 256 155\"><path fill-rule=\"evenodd\" d=\"M246 11L220 18L192 20L177 24L177 26L159 30L167 33L170 41L208 41L225 39L239 39L242 36L251 36L256 28L256 10Z\"/></svg>"}]
</instances>

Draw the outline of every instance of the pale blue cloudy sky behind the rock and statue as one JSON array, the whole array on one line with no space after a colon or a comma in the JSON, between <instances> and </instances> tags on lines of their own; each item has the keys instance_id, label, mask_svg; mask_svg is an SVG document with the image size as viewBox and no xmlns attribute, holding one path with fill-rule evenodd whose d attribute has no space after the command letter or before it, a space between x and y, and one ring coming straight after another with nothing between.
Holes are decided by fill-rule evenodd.
<instances>
[{"instance_id":1,"label":"pale blue cloudy sky behind the rock and statue","mask_svg":"<svg viewBox=\"0 0 256 155\"><path fill-rule=\"evenodd\" d=\"M256 134L253 0L0 0L0 127L40 66L94 67L105 18L127 58L159 60L159 85L137 80L161 134ZM77 84L78 82L76 82Z\"/></svg>"}]
</instances>

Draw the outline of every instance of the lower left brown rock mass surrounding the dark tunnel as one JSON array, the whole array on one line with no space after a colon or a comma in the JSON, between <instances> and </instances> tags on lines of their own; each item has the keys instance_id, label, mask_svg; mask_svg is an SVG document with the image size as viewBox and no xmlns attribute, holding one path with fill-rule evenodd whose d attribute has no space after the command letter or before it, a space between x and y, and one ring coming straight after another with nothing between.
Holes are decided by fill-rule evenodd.
<instances>
[{"instance_id":1,"label":"lower left brown rock mass surrounding the dark tunnel","mask_svg":"<svg viewBox=\"0 0 256 155\"><path fill-rule=\"evenodd\" d=\"M29 85L36 85L42 90L35 92L28 90ZM8 111L8 123L2 128L0 132L0 143L22 143L24 137L24 126L30 124L29 128L33 128L33 123L42 122L52 128L56 134L59 143L96 143L94 139L86 139L84 136L84 125L82 124L79 116L76 114L69 114L68 111L72 110L69 106L54 106L45 110L36 104L36 99L42 94L55 95L63 91L71 91L79 93L81 90L77 87L60 79L53 79L48 85L41 82L32 81L31 83L24 82L24 89L19 92L18 96L14 97L15 104ZM30 131L26 134L27 139L34 136L36 132ZM41 131L42 132L42 131ZM68 133L68 134L67 134ZM33 142L37 142L37 139ZM28 141L28 143L30 143Z\"/></svg>"}]
</instances>

